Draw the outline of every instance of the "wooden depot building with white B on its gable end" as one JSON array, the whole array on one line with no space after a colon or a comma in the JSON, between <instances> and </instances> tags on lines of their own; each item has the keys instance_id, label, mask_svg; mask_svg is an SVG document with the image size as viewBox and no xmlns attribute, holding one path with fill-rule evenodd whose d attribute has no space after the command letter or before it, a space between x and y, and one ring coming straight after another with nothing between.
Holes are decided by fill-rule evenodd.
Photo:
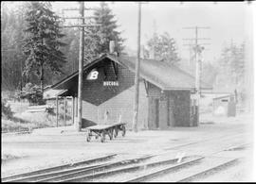
<instances>
[{"instance_id":1,"label":"wooden depot building with white B on its gable end","mask_svg":"<svg viewBox=\"0 0 256 184\"><path fill-rule=\"evenodd\" d=\"M126 122L134 116L136 58L104 54L83 66L82 127ZM167 129L197 125L194 77L176 66L154 59L140 60L139 129ZM202 82L202 89L211 87ZM50 88L72 96L77 117L78 71ZM106 121L107 114L107 121Z\"/></svg>"}]
</instances>

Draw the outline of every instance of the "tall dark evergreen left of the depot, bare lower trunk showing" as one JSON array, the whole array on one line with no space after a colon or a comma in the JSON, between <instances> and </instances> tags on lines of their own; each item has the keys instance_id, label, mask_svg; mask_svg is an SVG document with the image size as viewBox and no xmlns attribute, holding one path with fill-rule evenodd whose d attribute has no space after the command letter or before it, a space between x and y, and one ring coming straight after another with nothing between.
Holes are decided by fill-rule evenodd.
<instances>
[{"instance_id":1,"label":"tall dark evergreen left of the depot, bare lower trunk showing","mask_svg":"<svg viewBox=\"0 0 256 184\"><path fill-rule=\"evenodd\" d=\"M64 42L59 17L51 10L49 2L30 2L26 12L27 38L24 53L27 55L24 74L36 74L40 77L41 90L44 90L44 70L53 74L62 74L65 62L60 47Z\"/></svg>"}]
</instances>

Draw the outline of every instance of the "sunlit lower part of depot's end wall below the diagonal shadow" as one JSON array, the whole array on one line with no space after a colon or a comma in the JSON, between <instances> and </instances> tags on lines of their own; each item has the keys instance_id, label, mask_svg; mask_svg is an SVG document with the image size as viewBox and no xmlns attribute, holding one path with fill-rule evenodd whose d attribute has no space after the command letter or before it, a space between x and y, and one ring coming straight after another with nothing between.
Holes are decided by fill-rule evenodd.
<instances>
[{"instance_id":1,"label":"sunlit lower part of depot's end wall below the diagonal shadow","mask_svg":"<svg viewBox=\"0 0 256 184\"><path fill-rule=\"evenodd\" d=\"M134 117L134 92L135 86L120 92L116 96L108 99L96 106L86 101L82 101L82 118L104 124L104 112L109 111L107 124L113 124L119 120L119 114L122 114L121 121L128 123L127 128L132 128ZM148 128L148 101L143 81L139 83L139 107L138 107L138 128Z\"/></svg>"}]
</instances>

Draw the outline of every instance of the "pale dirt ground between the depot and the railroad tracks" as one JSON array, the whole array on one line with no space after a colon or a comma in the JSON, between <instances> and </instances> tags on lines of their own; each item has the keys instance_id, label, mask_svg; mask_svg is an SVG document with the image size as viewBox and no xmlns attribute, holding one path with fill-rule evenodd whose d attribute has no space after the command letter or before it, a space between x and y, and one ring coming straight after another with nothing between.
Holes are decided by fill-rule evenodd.
<instances>
[{"instance_id":1,"label":"pale dirt ground between the depot and the railroad tracks","mask_svg":"<svg viewBox=\"0 0 256 184\"><path fill-rule=\"evenodd\" d=\"M222 146L252 143L252 116L239 114L237 117L212 117L204 114L200 117L201 124L198 127L173 127L169 130L144 130L137 133L127 131L125 137L119 137L101 143L92 139L85 141L85 133L75 131L51 131L51 134L33 133L27 135L2 134L2 156L11 155L13 159L2 159L2 176L24 173L31 170L70 163L74 161L101 157L107 154L117 153L119 157L139 157L150 154L162 153L174 146L190 142L202 142L193 149L193 154L207 154ZM44 132L44 131L42 131ZM239 138L236 136L242 135ZM230 136L233 139L225 140ZM222 139L224 141L222 141ZM210 143L204 141L212 140ZM170 153L174 157L178 150ZM188 152L187 155L192 153ZM251 159L252 149L246 152L233 152L232 157ZM10 157L11 158L11 157ZM249 162L249 161L247 161ZM251 165L249 165L251 167ZM235 176L235 181L245 180L246 163L238 163L229 170L229 176L223 176L224 180L230 180ZM222 174L223 175L223 174ZM219 180L221 177L211 176L210 180ZM247 179L246 179L247 180Z\"/></svg>"}]
</instances>

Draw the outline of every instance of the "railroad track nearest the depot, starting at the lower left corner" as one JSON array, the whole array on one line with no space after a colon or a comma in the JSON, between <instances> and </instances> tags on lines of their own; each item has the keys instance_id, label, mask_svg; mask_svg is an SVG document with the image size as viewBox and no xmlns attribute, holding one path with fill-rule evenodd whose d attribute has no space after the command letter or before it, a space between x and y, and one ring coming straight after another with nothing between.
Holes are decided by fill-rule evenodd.
<instances>
[{"instance_id":1,"label":"railroad track nearest the depot, starting at the lower left corner","mask_svg":"<svg viewBox=\"0 0 256 184\"><path fill-rule=\"evenodd\" d=\"M141 158L136 158L136 159L123 159L119 161L112 161L112 162L104 162L100 164L94 164L94 165L89 165L94 162L98 161L107 161L109 159L113 159L116 154L110 155L107 157L102 157L102 158L97 158L97 159L89 159L85 160L82 162L78 162L75 164L66 164L58 167L52 167L52 168L47 168L44 170L38 170L34 172L29 172L26 174L21 174L21 175L16 175L16 176L9 176L2 178L3 182L44 182L44 181L60 181L63 180L64 178L70 178L74 176L81 176L85 174L93 174L95 172L100 172L106 169L111 169L111 168L118 168L120 166L124 165L129 165L129 164L134 164L134 163L139 163L143 160L150 159L154 156L144 156ZM77 166L84 165L83 167L77 168Z\"/></svg>"}]
</instances>

